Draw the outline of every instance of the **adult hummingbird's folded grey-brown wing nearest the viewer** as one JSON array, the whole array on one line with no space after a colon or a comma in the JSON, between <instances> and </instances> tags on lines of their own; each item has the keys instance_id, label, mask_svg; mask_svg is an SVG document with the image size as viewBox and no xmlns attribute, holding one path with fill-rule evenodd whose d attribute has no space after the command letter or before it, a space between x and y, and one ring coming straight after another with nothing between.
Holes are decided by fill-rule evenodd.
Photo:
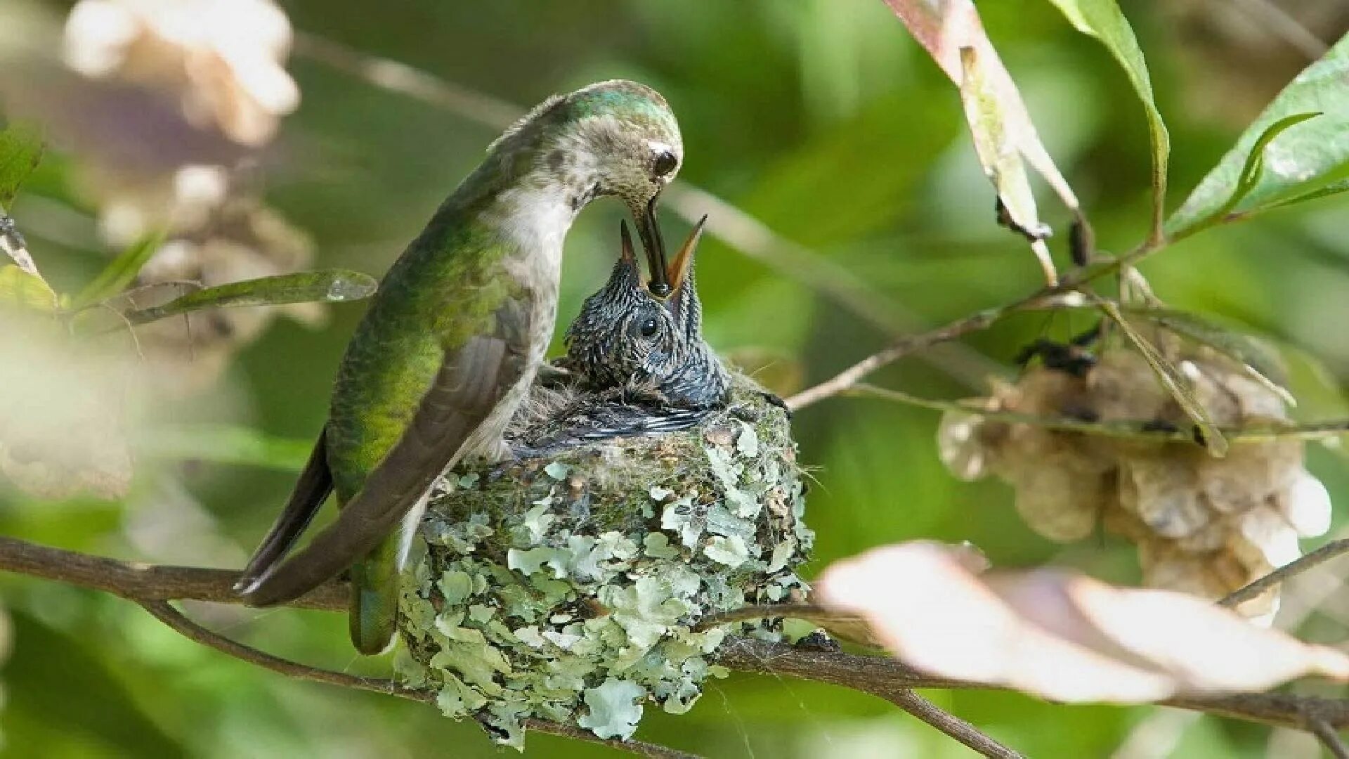
<instances>
[{"instance_id":1,"label":"adult hummingbird's folded grey-brown wing nearest the viewer","mask_svg":"<svg viewBox=\"0 0 1349 759\"><path fill-rule=\"evenodd\" d=\"M359 562L463 455L464 443L527 371L529 309L507 300L496 309L495 321L492 334L473 335L445 351L398 443L309 546L285 563L266 567L241 590L248 605L293 601Z\"/></svg>"}]
</instances>

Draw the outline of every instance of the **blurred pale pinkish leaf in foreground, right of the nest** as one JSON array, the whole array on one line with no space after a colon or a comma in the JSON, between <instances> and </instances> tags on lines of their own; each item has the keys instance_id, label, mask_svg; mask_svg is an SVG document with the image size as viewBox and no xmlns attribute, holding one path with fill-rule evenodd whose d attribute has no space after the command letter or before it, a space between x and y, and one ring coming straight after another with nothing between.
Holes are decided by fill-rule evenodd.
<instances>
[{"instance_id":1,"label":"blurred pale pinkish leaf in foreground, right of the nest","mask_svg":"<svg viewBox=\"0 0 1349 759\"><path fill-rule=\"evenodd\" d=\"M1265 690L1304 675L1349 679L1349 656L1166 590L1060 571L970 571L931 543L838 562L815 601L866 617L886 648L934 675L1070 702L1149 702Z\"/></svg>"}]
</instances>

